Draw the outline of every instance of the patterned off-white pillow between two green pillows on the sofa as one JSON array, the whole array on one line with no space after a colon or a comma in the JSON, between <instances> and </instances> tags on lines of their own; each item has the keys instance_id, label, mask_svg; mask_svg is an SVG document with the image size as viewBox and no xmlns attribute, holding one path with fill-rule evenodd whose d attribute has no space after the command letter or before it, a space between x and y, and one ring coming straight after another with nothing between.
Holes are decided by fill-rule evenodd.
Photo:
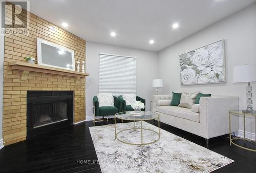
<instances>
[{"instance_id":1,"label":"patterned off-white pillow between two green pillows on the sofa","mask_svg":"<svg viewBox=\"0 0 256 173\"><path fill-rule=\"evenodd\" d=\"M195 103L196 99L197 99L197 95L200 92L195 92L195 93L186 93L186 92L182 92L181 97L180 97L180 104L178 105L179 107L187 107L189 109L191 109L192 105Z\"/></svg>"}]
</instances>

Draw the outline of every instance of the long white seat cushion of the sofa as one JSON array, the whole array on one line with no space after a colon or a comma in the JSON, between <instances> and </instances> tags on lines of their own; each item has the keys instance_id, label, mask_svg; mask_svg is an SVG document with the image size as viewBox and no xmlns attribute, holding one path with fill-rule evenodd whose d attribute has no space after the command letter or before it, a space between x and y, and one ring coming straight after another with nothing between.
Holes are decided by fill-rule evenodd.
<instances>
[{"instance_id":1,"label":"long white seat cushion of the sofa","mask_svg":"<svg viewBox=\"0 0 256 173\"><path fill-rule=\"evenodd\" d=\"M172 115L175 117L180 117L184 119L188 119L195 122L200 122L199 113L192 112L191 109L186 107L177 107L177 106L157 106L156 111L168 115Z\"/></svg>"}]
</instances>

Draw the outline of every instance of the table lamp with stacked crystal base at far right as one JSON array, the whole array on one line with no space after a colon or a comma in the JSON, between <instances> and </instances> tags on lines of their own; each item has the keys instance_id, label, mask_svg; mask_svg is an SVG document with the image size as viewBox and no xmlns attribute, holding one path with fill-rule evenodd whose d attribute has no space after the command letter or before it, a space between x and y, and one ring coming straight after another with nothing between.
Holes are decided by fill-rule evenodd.
<instances>
[{"instance_id":1,"label":"table lamp with stacked crystal base at far right","mask_svg":"<svg viewBox=\"0 0 256 173\"><path fill-rule=\"evenodd\" d=\"M245 64L242 66L236 66L234 67L233 72L233 83L240 83L240 82L247 82L246 87L246 98L247 98L247 113L256 113L256 111L253 111L252 109L252 88L250 85L250 82L256 81L256 63L255 64Z\"/></svg>"}]
</instances>

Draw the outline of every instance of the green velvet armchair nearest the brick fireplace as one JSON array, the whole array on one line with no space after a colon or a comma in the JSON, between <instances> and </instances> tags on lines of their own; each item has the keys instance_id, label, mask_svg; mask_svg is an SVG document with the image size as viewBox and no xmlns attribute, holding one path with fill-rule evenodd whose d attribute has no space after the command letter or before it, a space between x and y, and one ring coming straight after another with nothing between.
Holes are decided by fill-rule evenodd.
<instances>
[{"instance_id":1,"label":"green velvet armchair nearest the brick fireplace","mask_svg":"<svg viewBox=\"0 0 256 173\"><path fill-rule=\"evenodd\" d=\"M96 120L103 120L104 116L115 115L122 111L122 102L117 97L114 97L114 106L99 106L99 101L97 96L93 97L93 106L94 106L94 117L102 117L100 119L94 118L94 123ZM106 118L112 119L112 118Z\"/></svg>"}]
</instances>

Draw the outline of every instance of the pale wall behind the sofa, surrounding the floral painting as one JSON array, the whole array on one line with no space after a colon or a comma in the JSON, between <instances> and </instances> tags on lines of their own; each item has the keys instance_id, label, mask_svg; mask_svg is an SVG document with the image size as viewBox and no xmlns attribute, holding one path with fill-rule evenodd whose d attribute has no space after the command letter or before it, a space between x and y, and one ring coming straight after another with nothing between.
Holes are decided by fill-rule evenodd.
<instances>
[{"instance_id":1,"label":"pale wall behind the sofa, surrounding the floral painting","mask_svg":"<svg viewBox=\"0 0 256 173\"><path fill-rule=\"evenodd\" d=\"M225 39L226 83L201 84L181 87L179 55L195 50L212 42ZM234 95L240 97L240 109L246 108L247 83L233 83L233 67L245 63L256 63L256 3L221 21L191 35L176 44L158 52L158 68L163 79L163 93L172 91L212 93L214 95ZM256 74L255 74L256 75ZM256 82L251 83L256 110ZM242 128L240 121L240 129ZM255 133L254 119L247 119L246 131Z\"/></svg>"}]
</instances>

